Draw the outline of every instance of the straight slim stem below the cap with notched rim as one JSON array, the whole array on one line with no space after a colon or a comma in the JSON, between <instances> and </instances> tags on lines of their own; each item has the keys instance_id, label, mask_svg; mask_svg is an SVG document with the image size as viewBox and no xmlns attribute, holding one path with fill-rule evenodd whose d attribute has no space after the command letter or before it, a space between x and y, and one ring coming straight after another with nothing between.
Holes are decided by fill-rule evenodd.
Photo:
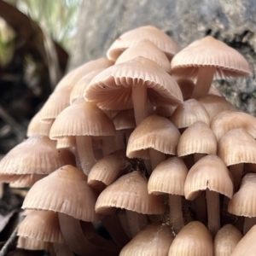
<instances>
[{"instance_id":1,"label":"straight slim stem below the cap with notched rim","mask_svg":"<svg viewBox=\"0 0 256 256\"><path fill-rule=\"evenodd\" d=\"M220 229L219 216L219 195L215 191L206 190L207 194L207 215L208 215L208 229L212 236L215 236Z\"/></svg>"}]
</instances>

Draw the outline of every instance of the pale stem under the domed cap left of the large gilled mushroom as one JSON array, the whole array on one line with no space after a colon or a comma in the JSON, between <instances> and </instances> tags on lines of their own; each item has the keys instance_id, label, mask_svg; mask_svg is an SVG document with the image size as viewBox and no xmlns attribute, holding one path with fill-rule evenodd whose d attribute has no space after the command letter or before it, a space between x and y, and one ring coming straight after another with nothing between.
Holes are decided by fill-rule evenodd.
<instances>
[{"instance_id":1,"label":"pale stem under the domed cap left of the large gilled mushroom","mask_svg":"<svg viewBox=\"0 0 256 256\"><path fill-rule=\"evenodd\" d=\"M76 137L77 150L79 154L80 164L84 174L89 175L90 169L95 165L95 157L92 150L90 136Z\"/></svg>"}]
</instances>

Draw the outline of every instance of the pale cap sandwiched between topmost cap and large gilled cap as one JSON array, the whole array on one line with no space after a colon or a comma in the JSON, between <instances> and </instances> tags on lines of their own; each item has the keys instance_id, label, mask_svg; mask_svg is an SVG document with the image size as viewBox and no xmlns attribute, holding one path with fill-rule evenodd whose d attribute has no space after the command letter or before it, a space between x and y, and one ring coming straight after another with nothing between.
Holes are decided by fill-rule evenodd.
<instances>
[{"instance_id":1,"label":"pale cap sandwiched between topmost cap and large gilled cap","mask_svg":"<svg viewBox=\"0 0 256 256\"><path fill-rule=\"evenodd\" d=\"M131 46L131 48L125 49L115 61L115 65L125 61L131 61L138 56L154 61L161 68L166 70L167 73L171 73L170 61L166 55L147 39L138 42L138 44Z\"/></svg>"}]
</instances>

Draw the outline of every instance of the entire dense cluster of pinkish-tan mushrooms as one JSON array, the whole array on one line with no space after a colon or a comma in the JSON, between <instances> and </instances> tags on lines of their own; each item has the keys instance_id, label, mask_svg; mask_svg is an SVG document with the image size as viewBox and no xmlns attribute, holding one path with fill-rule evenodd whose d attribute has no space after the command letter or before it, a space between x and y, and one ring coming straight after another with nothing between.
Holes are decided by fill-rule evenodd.
<instances>
[{"instance_id":1,"label":"entire dense cluster of pinkish-tan mushrooms","mask_svg":"<svg viewBox=\"0 0 256 256\"><path fill-rule=\"evenodd\" d=\"M256 119L211 85L249 74L215 38L180 50L154 26L125 32L107 58L67 73L0 162L1 181L31 187L17 246L254 255Z\"/></svg>"}]
</instances>

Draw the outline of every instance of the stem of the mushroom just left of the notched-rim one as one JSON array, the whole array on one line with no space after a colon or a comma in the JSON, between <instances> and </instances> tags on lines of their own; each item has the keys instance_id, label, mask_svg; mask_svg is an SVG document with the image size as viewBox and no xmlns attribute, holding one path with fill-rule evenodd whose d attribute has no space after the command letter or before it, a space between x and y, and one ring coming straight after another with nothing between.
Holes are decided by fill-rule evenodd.
<instances>
[{"instance_id":1,"label":"stem of the mushroom just left of the notched-rim one","mask_svg":"<svg viewBox=\"0 0 256 256\"><path fill-rule=\"evenodd\" d=\"M182 202L180 195L169 195L170 222L175 234L184 226Z\"/></svg>"}]
</instances>

